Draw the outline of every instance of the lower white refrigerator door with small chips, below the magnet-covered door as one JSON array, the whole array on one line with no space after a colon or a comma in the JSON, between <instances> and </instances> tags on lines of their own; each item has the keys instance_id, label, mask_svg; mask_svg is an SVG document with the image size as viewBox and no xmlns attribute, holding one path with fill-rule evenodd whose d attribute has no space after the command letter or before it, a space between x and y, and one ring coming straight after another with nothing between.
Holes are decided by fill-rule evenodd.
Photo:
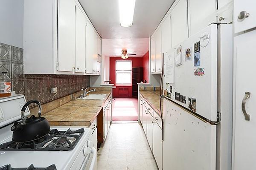
<instances>
[{"instance_id":1,"label":"lower white refrigerator door with small chips, below the magnet-covered door","mask_svg":"<svg viewBox=\"0 0 256 170\"><path fill-rule=\"evenodd\" d=\"M163 170L216 170L216 126L164 99Z\"/></svg>"}]
</instances>

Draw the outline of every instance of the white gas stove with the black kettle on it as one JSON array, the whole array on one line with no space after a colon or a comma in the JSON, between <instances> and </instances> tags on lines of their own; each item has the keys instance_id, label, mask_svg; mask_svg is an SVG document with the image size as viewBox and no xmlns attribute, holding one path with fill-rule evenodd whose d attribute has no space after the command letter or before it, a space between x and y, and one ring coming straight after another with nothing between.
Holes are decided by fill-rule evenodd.
<instances>
[{"instance_id":1,"label":"white gas stove with the black kettle on it","mask_svg":"<svg viewBox=\"0 0 256 170\"><path fill-rule=\"evenodd\" d=\"M25 102L22 95L0 99L0 169L6 165L27 168L31 164L42 170L48 170L49 166L55 166L56 170L95 169L96 150L88 139L92 131L89 128L55 126L42 139L12 142L11 127L13 121L20 119ZM26 115L29 113L28 110Z\"/></svg>"}]
</instances>

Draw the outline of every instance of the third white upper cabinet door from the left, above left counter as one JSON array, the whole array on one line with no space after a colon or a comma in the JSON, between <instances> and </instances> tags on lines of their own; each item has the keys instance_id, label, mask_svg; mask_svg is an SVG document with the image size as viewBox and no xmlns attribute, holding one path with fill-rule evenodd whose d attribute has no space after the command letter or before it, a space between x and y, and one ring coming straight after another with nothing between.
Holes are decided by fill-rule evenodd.
<instances>
[{"instance_id":1,"label":"third white upper cabinet door from the left, above left counter","mask_svg":"<svg viewBox=\"0 0 256 170\"><path fill-rule=\"evenodd\" d=\"M86 26L86 73L93 73L93 54L95 54L95 32L90 23Z\"/></svg>"}]
</instances>

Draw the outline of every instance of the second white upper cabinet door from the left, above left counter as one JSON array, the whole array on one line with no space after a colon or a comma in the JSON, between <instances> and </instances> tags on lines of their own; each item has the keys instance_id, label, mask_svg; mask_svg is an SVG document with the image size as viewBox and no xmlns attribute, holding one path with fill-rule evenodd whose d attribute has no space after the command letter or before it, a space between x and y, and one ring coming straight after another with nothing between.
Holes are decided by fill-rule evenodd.
<instances>
[{"instance_id":1,"label":"second white upper cabinet door from the left, above left counter","mask_svg":"<svg viewBox=\"0 0 256 170\"><path fill-rule=\"evenodd\" d=\"M81 9L76 6L76 68L75 72L85 71L86 19Z\"/></svg>"}]
</instances>

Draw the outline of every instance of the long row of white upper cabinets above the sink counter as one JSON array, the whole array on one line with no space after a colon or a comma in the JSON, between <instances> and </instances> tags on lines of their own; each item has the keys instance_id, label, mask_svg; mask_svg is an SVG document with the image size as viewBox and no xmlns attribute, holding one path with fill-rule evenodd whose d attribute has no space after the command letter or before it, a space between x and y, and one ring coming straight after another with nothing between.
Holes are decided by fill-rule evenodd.
<instances>
[{"instance_id":1,"label":"long row of white upper cabinets above the sink counter","mask_svg":"<svg viewBox=\"0 0 256 170\"><path fill-rule=\"evenodd\" d=\"M24 74L99 74L99 35L78 0L24 0L23 27Z\"/></svg>"}]
</instances>

